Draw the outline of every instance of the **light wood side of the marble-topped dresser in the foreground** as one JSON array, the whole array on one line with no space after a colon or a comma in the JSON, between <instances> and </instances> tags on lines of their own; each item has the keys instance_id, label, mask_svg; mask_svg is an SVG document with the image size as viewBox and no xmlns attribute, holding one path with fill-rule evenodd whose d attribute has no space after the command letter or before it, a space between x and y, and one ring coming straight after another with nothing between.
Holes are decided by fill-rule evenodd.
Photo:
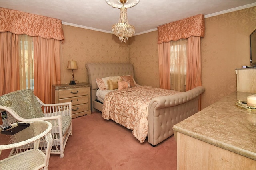
<instances>
[{"instance_id":1,"label":"light wood side of the marble-topped dresser in the foreground","mask_svg":"<svg viewBox=\"0 0 256 170\"><path fill-rule=\"evenodd\" d=\"M256 161L177 132L177 170L255 170Z\"/></svg>"}]
</instances>

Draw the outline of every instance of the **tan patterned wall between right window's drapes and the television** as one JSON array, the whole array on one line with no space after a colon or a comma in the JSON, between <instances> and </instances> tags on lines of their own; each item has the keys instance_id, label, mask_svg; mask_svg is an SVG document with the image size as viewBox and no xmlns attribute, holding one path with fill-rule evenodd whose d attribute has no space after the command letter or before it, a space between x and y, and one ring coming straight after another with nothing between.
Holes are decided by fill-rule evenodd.
<instances>
[{"instance_id":1,"label":"tan patterned wall between right window's drapes and the television","mask_svg":"<svg viewBox=\"0 0 256 170\"><path fill-rule=\"evenodd\" d=\"M206 18L205 25L202 108L236 91L235 68L250 65L249 35L256 29L256 7Z\"/></svg>"}]
</instances>

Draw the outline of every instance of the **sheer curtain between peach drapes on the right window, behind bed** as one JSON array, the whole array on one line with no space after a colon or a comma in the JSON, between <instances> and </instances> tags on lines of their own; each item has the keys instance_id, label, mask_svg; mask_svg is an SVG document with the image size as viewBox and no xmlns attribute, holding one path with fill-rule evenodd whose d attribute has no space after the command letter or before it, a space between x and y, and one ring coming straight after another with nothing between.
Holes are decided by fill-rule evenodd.
<instances>
[{"instance_id":1,"label":"sheer curtain between peach drapes on the right window, behind bed","mask_svg":"<svg viewBox=\"0 0 256 170\"><path fill-rule=\"evenodd\" d=\"M187 39L170 41L171 90L186 91Z\"/></svg>"}]
</instances>

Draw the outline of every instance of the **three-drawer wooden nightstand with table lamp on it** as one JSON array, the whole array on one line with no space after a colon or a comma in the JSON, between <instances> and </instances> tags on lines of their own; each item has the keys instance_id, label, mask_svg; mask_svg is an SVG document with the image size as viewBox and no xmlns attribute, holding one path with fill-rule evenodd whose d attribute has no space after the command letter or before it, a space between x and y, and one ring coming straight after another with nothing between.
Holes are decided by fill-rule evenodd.
<instances>
[{"instance_id":1,"label":"three-drawer wooden nightstand with table lamp on it","mask_svg":"<svg viewBox=\"0 0 256 170\"><path fill-rule=\"evenodd\" d=\"M91 84L52 85L52 103L72 103L72 118L91 114Z\"/></svg>"}]
</instances>

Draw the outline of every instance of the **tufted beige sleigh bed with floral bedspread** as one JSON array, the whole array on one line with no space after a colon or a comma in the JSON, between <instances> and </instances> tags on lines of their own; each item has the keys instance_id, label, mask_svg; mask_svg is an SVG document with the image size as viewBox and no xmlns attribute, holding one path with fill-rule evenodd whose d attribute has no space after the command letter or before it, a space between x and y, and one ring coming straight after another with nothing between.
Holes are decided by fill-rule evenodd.
<instances>
[{"instance_id":1,"label":"tufted beige sleigh bed with floral bedspread","mask_svg":"<svg viewBox=\"0 0 256 170\"><path fill-rule=\"evenodd\" d=\"M133 127L129 127L129 123L124 122L129 115L123 114L126 112L132 114L128 107L125 107L125 110L120 111L120 107L117 106L117 103L112 102L117 101L115 100L117 96L120 97L120 95L124 95L126 93L124 91L128 91L127 93L130 93L135 89L137 90L136 93L138 93L139 90L143 89L145 94L145 90L152 89L153 91L150 93L154 94L156 90L161 91L163 89L136 85L132 88L116 90L116 92L114 92L114 90L110 90L111 92L106 94L106 102L102 103L97 99L96 93L98 93L98 85L96 83L96 79L124 75L131 75L134 77L133 66L130 63L87 63L86 68L88 70L88 78L91 84L92 111L101 111L104 119L112 119L128 129L132 129L133 135L134 133L138 133L134 132L135 130ZM136 84L136 82L134 83ZM146 115L140 116L144 117L146 124L143 121L143 125L138 125L142 127L144 136L141 138L140 136L136 137L136 135L134 135L141 143L144 142L146 137L148 138L148 143L152 146L161 143L174 134L172 129L173 125L198 112L198 101L200 94L204 92L204 87L199 86L187 92L169 91L172 91L172 95L165 94L164 96L153 97L150 100L147 99L148 101L143 103L143 108L137 108L137 111L134 109L138 113L146 113ZM164 92L168 93L167 91ZM146 101L145 99L140 100ZM115 105L117 107L114 107ZM134 105L132 106L134 107ZM119 111L120 113L118 113ZM136 119L138 119L138 117L136 117Z\"/></svg>"}]
</instances>

